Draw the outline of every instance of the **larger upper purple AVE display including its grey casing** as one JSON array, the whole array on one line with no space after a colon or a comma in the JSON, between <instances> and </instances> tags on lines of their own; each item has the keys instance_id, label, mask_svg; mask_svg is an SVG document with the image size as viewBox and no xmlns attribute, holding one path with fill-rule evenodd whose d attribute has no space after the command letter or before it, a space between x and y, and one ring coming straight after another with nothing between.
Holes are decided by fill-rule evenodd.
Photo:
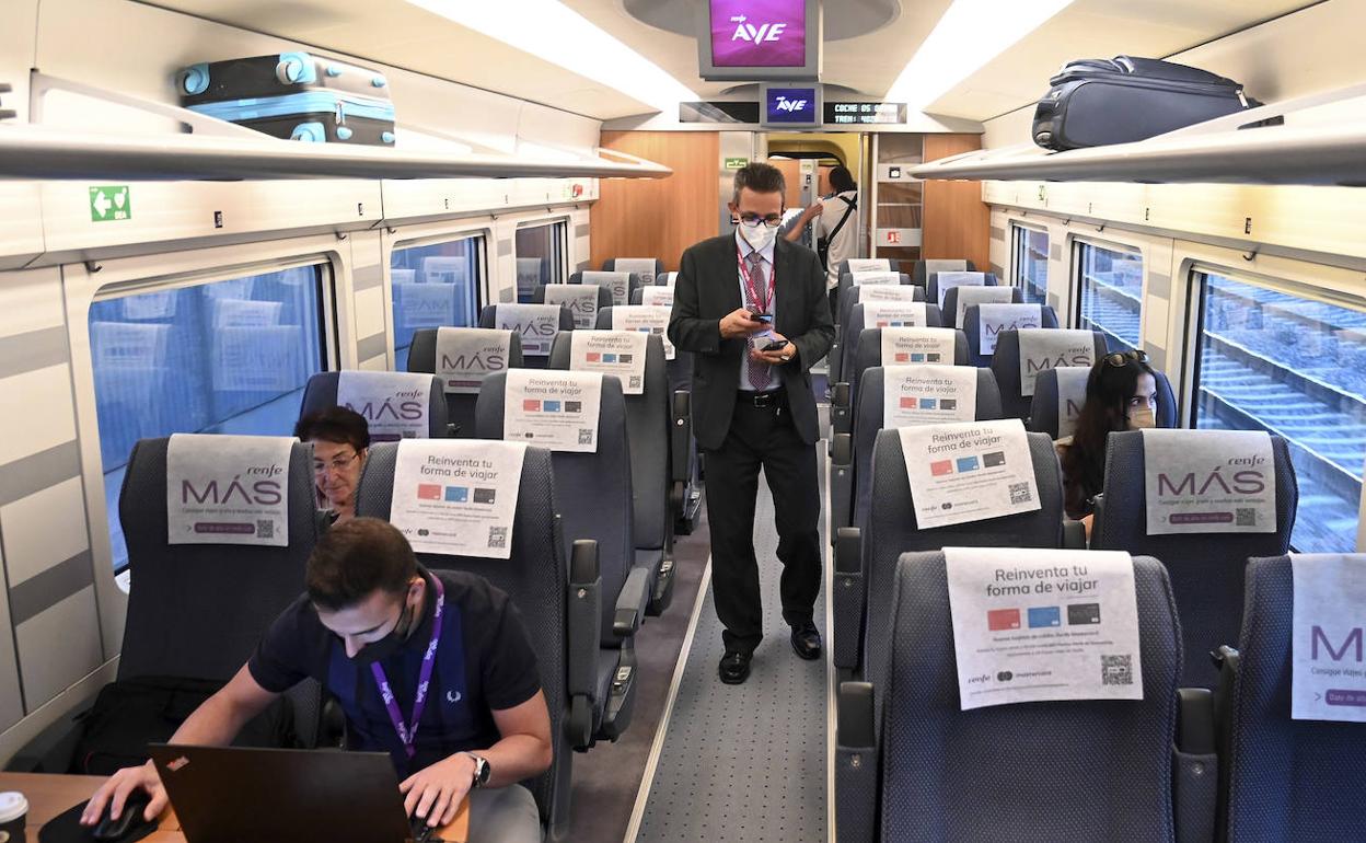
<instances>
[{"instance_id":1,"label":"larger upper purple AVE display including its grey casing","mask_svg":"<svg viewBox=\"0 0 1366 843\"><path fill-rule=\"evenodd\" d=\"M703 79L820 78L818 0L708 0L698 4L698 25Z\"/></svg>"}]
</instances>

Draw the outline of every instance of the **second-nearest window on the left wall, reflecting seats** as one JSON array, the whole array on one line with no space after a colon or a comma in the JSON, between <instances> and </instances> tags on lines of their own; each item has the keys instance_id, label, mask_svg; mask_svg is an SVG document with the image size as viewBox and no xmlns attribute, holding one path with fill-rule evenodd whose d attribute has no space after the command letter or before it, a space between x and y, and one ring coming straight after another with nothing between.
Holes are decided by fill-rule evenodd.
<instances>
[{"instance_id":1,"label":"second-nearest window on the left wall, reflecting seats","mask_svg":"<svg viewBox=\"0 0 1366 843\"><path fill-rule=\"evenodd\" d=\"M408 370L408 347L419 328L473 328L479 322L479 246L482 238L395 249L389 258L393 281L395 368Z\"/></svg>"}]
</instances>

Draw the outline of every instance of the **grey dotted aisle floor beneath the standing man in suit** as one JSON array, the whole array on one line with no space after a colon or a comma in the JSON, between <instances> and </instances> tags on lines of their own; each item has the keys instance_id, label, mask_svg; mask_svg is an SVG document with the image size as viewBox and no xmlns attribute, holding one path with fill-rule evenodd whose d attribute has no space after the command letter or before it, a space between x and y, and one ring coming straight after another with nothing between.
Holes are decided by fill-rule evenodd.
<instances>
[{"instance_id":1,"label":"grey dotted aisle floor beneath the standing man in suit","mask_svg":"<svg viewBox=\"0 0 1366 843\"><path fill-rule=\"evenodd\" d=\"M825 454L824 441L818 445ZM825 460L821 460L825 488ZM825 657L802 661L788 642L779 601L777 534L773 497L759 482L755 552L764 589L764 642L744 685L723 685L721 624L710 592L710 563L702 597L693 607L672 706L665 712L656 754L641 784L627 842L740 840L799 843L826 840L829 723L829 544L825 512L821 548L826 575L816 604ZM632 833L634 832L634 833Z\"/></svg>"}]
</instances>

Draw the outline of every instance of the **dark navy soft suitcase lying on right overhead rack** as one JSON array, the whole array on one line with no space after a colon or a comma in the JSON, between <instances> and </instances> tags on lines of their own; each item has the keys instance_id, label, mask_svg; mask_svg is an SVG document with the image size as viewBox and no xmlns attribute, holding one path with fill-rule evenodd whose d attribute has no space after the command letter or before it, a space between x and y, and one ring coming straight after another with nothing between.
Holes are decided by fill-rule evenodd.
<instances>
[{"instance_id":1,"label":"dark navy soft suitcase lying on right overhead rack","mask_svg":"<svg viewBox=\"0 0 1366 843\"><path fill-rule=\"evenodd\" d=\"M1232 79L1134 56L1070 61L1049 83L1033 134L1056 150L1142 141L1261 105Z\"/></svg>"}]
</instances>

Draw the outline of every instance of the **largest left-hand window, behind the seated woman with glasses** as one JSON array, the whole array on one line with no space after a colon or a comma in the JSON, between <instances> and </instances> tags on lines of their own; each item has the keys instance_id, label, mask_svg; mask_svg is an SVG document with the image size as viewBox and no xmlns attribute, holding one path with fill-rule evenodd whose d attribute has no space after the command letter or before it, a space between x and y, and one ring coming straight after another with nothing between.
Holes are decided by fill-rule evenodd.
<instances>
[{"instance_id":1,"label":"largest left-hand window, behind the seated woman with glasses","mask_svg":"<svg viewBox=\"0 0 1366 843\"><path fill-rule=\"evenodd\" d=\"M321 266L299 266L90 306L90 362L115 572L128 564L119 489L139 439L288 434L326 368Z\"/></svg>"}]
</instances>

